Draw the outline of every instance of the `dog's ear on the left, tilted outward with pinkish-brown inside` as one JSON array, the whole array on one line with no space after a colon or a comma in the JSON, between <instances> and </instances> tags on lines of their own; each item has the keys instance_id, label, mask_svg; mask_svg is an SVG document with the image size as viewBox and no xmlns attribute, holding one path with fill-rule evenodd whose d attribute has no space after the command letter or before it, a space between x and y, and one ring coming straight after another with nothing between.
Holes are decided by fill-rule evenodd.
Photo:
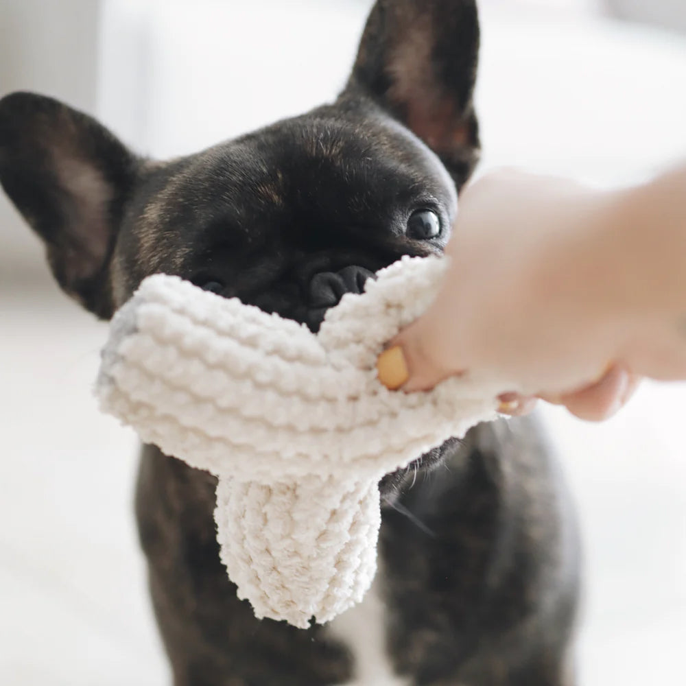
<instances>
[{"instance_id":1,"label":"dog's ear on the left, tilted outward with pinkish-brown inside","mask_svg":"<svg viewBox=\"0 0 686 686\"><path fill-rule=\"evenodd\" d=\"M111 316L108 276L137 159L97 121L33 93L0 100L0 182L45 241L60 286Z\"/></svg>"}]
</instances>

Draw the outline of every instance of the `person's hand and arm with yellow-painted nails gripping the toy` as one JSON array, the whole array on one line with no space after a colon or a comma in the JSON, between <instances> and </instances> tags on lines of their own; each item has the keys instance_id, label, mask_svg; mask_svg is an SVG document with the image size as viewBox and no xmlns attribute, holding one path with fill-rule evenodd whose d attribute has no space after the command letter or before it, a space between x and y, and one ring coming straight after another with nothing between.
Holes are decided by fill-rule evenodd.
<instances>
[{"instance_id":1,"label":"person's hand and arm with yellow-painted nails gripping the toy","mask_svg":"<svg viewBox=\"0 0 686 686\"><path fill-rule=\"evenodd\" d=\"M486 370L510 380L503 412L601 420L641 377L686 379L686 165L615 191L497 171L460 200L438 297L379 358L387 386Z\"/></svg>"}]
</instances>

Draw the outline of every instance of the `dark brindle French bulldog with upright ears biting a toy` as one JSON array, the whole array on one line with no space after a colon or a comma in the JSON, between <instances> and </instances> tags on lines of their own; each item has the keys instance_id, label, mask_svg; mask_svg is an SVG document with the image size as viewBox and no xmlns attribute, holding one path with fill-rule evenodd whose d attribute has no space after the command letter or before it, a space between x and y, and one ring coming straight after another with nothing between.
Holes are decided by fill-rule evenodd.
<instances>
[{"instance_id":1,"label":"dark brindle French bulldog with upright ears biting a toy","mask_svg":"<svg viewBox=\"0 0 686 686\"><path fill-rule=\"evenodd\" d=\"M62 288L101 318L166 272L316 331L371 272L445 246L478 157L478 45L473 0L379 0L335 103L165 164L16 93L0 102L0 179ZM237 600L214 490L143 449L137 517L175 685L381 686L345 622L297 630ZM359 612L393 683L570 685L576 529L536 427L478 427L381 492L379 573Z\"/></svg>"}]
</instances>

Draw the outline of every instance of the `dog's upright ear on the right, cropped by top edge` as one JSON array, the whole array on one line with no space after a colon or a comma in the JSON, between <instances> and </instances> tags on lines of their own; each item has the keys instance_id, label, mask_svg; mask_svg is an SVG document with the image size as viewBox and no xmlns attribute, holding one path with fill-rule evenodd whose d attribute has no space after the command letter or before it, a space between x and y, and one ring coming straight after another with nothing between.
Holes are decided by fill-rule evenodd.
<instances>
[{"instance_id":1,"label":"dog's upright ear on the right, cropped by top edge","mask_svg":"<svg viewBox=\"0 0 686 686\"><path fill-rule=\"evenodd\" d=\"M440 157L460 188L480 150L475 0L378 0L344 93L372 97Z\"/></svg>"}]
</instances>

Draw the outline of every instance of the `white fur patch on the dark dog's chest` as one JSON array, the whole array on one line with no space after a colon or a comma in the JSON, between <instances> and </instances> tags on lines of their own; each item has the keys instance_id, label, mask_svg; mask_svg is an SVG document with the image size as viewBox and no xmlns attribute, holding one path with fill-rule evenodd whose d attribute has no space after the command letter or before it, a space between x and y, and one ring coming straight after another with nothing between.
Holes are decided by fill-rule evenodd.
<instances>
[{"instance_id":1,"label":"white fur patch on the dark dog's chest","mask_svg":"<svg viewBox=\"0 0 686 686\"><path fill-rule=\"evenodd\" d=\"M364 600L327 625L327 633L351 651L355 677L344 686L410 686L394 673L386 650L385 608L374 582Z\"/></svg>"}]
</instances>

